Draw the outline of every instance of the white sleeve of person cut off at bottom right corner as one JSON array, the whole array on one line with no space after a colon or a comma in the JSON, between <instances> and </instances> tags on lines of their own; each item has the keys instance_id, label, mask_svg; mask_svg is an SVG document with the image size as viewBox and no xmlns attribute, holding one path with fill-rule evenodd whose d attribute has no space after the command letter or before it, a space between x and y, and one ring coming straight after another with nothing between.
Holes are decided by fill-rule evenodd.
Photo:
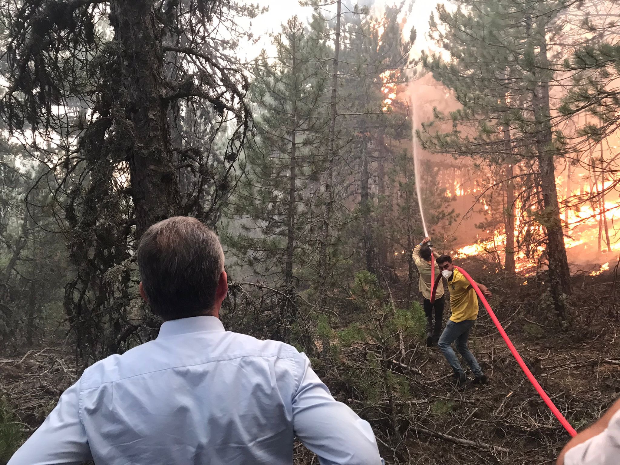
<instances>
[{"instance_id":1,"label":"white sleeve of person cut off at bottom right corner","mask_svg":"<svg viewBox=\"0 0 620 465\"><path fill-rule=\"evenodd\" d=\"M600 435L569 449L564 465L618 465L620 456L620 412Z\"/></svg>"}]
</instances>

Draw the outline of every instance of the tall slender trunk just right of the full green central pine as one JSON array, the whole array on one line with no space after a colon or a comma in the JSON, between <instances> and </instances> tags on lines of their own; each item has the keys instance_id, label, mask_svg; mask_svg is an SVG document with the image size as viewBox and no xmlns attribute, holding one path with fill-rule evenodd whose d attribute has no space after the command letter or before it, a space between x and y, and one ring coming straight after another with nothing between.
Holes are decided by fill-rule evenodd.
<instances>
[{"instance_id":1,"label":"tall slender trunk just right of the full green central pine","mask_svg":"<svg viewBox=\"0 0 620 465\"><path fill-rule=\"evenodd\" d=\"M340 56L340 15L342 14L342 1L336 1L336 29L334 35L334 62L332 65L332 95L330 98L329 120L329 149L327 153L327 172L325 173L325 211L323 217L322 241L321 241L321 284L323 291L329 274L329 226L334 211L334 159L336 157L336 114L338 99L338 63Z\"/></svg>"}]
</instances>

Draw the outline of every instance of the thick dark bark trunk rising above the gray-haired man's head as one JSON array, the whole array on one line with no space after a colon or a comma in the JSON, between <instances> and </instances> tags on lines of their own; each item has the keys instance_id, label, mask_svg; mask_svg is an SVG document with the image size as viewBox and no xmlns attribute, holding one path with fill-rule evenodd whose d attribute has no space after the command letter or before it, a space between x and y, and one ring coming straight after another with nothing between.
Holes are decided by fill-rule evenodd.
<instances>
[{"instance_id":1,"label":"thick dark bark trunk rising above the gray-haired man's head","mask_svg":"<svg viewBox=\"0 0 620 465\"><path fill-rule=\"evenodd\" d=\"M167 103L162 99L164 51L156 30L154 0L114 0L110 24L114 41L122 50L121 86L125 95L122 115L115 121L118 138L128 141L131 196L135 207L136 235L151 224L182 214L179 184L170 149ZM121 120L120 118L126 118Z\"/></svg>"}]
</instances>

